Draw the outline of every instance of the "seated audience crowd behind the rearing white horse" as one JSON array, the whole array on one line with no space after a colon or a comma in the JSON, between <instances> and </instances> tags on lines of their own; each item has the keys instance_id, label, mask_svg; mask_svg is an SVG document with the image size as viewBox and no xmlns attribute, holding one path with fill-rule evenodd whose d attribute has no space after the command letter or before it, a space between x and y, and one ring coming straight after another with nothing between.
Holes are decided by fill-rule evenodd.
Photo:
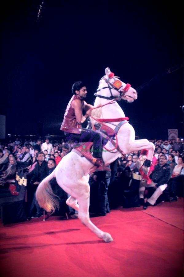
<instances>
[{"instance_id":1,"label":"seated audience crowd behind the rearing white horse","mask_svg":"<svg viewBox=\"0 0 184 277\"><path fill-rule=\"evenodd\" d=\"M183 197L183 141L151 140L155 144L155 153L150 167L151 183L140 173L139 160L142 152L134 151L109 165L111 171L96 171L90 175L90 216L105 216L111 209L156 205L161 201L177 201ZM22 170L27 175L27 217L37 218L43 215L35 191L39 183L48 176L58 163L72 150L65 139L51 140L22 139L0 142L0 199L7 195L16 197L10 189L11 181ZM144 166L143 168L144 169ZM71 169L72 170L72 169ZM57 185L56 179L51 186L60 198L61 213L65 210L65 201L69 197ZM5 193L6 192L6 193ZM77 217L77 211L68 207L70 217ZM66 212L66 210L65 210Z\"/></svg>"}]
</instances>

